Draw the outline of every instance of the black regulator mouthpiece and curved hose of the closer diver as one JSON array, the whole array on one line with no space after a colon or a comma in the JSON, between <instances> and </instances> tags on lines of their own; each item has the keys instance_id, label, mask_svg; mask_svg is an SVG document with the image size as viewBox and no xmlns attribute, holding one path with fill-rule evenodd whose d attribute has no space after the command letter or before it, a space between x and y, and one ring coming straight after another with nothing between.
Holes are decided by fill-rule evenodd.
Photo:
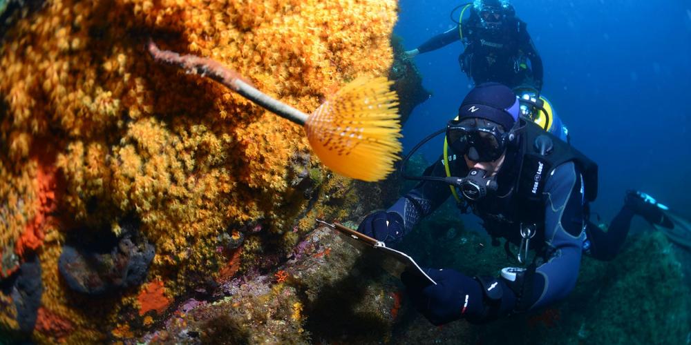
<instances>
[{"instance_id":1,"label":"black regulator mouthpiece and curved hose of the closer diver","mask_svg":"<svg viewBox=\"0 0 691 345\"><path fill-rule=\"evenodd\" d=\"M481 169L471 169L468 171L466 177L434 177L434 176L410 176L406 174L406 163L408 159L419 150L421 146L430 141L439 134L446 132L446 128L442 130L437 130L432 134L428 135L425 139L422 139L413 150L410 150L408 155L401 161L401 177L404 179L417 180L417 181L436 181L443 182L444 184L450 184L458 188L463 195L463 197L468 201L477 201L482 199L487 195L488 192L495 192L497 190L496 175L493 177L486 177L486 171ZM446 158L446 157L444 157ZM448 162L446 162L448 164Z\"/></svg>"}]
</instances>

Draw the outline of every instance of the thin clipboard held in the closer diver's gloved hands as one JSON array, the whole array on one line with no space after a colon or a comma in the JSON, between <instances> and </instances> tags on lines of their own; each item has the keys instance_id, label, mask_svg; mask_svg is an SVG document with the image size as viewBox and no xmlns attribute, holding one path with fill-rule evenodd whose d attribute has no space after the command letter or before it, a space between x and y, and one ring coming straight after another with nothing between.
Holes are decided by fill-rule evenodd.
<instances>
[{"instance_id":1,"label":"thin clipboard held in the closer diver's gloved hands","mask_svg":"<svg viewBox=\"0 0 691 345\"><path fill-rule=\"evenodd\" d=\"M379 259L379 264L384 270L386 270L391 275L395 277L400 277L401 273L404 271L408 273L413 273L417 275L420 279L423 279L430 284L437 285L434 279L430 278L427 273L420 268L420 266L415 262L415 260L410 257L410 255L403 253L399 250L389 248L384 244L384 242L377 241L367 235L358 233L356 230L352 230L346 226L335 223L330 224L321 219L316 219L317 222L328 226L332 230L336 230L341 238L345 239L345 242L350 243L355 248L359 249L361 253L368 253Z\"/></svg>"}]
</instances>

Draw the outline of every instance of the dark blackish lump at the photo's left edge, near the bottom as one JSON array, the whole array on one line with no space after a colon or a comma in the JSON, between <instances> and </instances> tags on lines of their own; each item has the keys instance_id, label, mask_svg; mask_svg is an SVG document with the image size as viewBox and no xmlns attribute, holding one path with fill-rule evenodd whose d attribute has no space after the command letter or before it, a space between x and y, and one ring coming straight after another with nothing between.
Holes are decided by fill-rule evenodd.
<instances>
[{"instance_id":1,"label":"dark blackish lump at the photo's left edge, near the bottom","mask_svg":"<svg viewBox=\"0 0 691 345\"><path fill-rule=\"evenodd\" d=\"M1 283L5 295L10 295L17 311L16 321L19 331L31 333L36 325L43 283L41 282L41 264L37 257L28 259L19 266L19 270Z\"/></svg>"}]
</instances>

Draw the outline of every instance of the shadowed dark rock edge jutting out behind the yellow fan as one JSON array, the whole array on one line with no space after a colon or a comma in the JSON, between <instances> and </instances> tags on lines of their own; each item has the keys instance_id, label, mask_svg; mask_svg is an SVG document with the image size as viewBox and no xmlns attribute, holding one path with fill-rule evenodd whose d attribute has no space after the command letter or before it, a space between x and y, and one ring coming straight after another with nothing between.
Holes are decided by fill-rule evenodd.
<instances>
[{"instance_id":1,"label":"shadowed dark rock edge jutting out behind the yellow fan","mask_svg":"<svg viewBox=\"0 0 691 345\"><path fill-rule=\"evenodd\" d=\"M422 86L422 75L413 60L406 57L401 37L393 35L391 46L394 51L394 61L388 77L394 81L392 88L401 102L398 110L401 115L401 126L403 126L408 121L413 108L426 101L430 97L430 92Z\"/></svg>"}]
</instances>

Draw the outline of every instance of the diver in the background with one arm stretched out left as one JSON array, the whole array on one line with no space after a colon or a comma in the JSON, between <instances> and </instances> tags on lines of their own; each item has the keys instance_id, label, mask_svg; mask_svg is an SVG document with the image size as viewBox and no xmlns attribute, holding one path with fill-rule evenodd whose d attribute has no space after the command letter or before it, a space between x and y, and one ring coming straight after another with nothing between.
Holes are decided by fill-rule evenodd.
<instances>
[{"instance_id":1,"label":"diver in the background with one arm stretched out left","mask_svg":"<svg viewBox=\"0 0 691 345\"><path fill-rule=\"evenodd\" d=\"M526 23L515 16L508 0L475 0L457 8L462 10L455 28L406 51L406 55L412 58L462 41L465 50L458 62L475 85L496 81L511 88L528 84L538 92L542 90L542 59ZM464 21L468 9L469 17ZM455 21L453 12L451 15Z\"/></svg>"}]
</instances>

